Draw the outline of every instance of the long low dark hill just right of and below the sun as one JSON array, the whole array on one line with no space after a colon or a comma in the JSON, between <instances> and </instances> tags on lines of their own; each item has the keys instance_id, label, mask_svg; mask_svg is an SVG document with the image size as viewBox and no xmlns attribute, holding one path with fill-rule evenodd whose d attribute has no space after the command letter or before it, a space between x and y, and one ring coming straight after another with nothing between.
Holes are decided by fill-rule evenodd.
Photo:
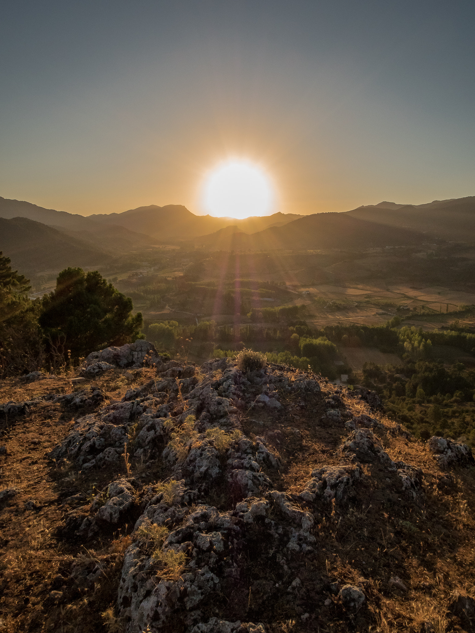
<instances>
[{"instance_id":1,"label":"long low dark hill just right of and below the sun","mask_svg":"<svg viewBox=\"0 0 475 633\"><path fill-rule=\"evenodd\" d=\"M243 232L217 232L194 241L196 246L217 250L269 249L348 249L403 246L424 241L424 235L407 229L389 229L375 222L353 218L347 213L316 213L284 227L271 227L247 235Z\"/></svg>"}]
</instances>

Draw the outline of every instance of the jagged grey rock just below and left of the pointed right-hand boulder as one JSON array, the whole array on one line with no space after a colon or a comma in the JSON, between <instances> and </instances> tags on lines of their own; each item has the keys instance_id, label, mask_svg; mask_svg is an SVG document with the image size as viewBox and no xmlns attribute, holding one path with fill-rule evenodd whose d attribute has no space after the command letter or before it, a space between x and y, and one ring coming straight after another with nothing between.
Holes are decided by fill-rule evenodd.
<instances>
[{"instance_id":1,"label":"jagged grey rock just below and left of the pointed right-hand boulder","mask_svg":"<svg viewBox=\"0 0 475 633\"><path fill-rule=\"evenodd\" d=\"M312 479L307 482L305 489L300 493L304 501L315 501L317 496L324 501L335 499L337 503L343 503L350 493L353 483L361 477L357 467L333 467L326 466L312 471Z\"/></svg>"}]
</instances>

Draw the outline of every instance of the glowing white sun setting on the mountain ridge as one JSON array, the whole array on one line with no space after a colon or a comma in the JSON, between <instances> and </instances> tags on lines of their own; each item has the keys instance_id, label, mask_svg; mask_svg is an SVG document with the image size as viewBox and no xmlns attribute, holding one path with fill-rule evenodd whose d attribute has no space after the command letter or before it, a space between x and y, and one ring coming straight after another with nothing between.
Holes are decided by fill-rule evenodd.
<instances>
[{"instance_id":1,"label":"glowing white sun setting on the mountain ridge","mask_svg":"<svg viewBox=\"0 0 475 633\"><path fill-rule=\"evenodd\" d=\"M269 177L250 161L221 163L205 181L205 208L213 216L269 215L273 201L274 191Z\"/></svg>"}]
</instances>

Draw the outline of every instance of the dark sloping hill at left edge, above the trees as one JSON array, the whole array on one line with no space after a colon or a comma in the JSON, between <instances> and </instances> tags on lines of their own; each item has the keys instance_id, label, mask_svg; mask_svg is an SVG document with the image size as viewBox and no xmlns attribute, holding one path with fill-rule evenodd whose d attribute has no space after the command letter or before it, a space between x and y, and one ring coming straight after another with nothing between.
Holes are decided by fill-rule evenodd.
<instances>
[{"instance_id":1,"label":"dark sloping hill at left edge, above the trees","mask_svg":"<svg viewBox=\"0 0 475 633\"><path fill-rule=\"evenodd\" d=\"M0 250L28 277L66 266L97 266L108 254L28 218L0 218Z\"/></svg>"}]
</instances>

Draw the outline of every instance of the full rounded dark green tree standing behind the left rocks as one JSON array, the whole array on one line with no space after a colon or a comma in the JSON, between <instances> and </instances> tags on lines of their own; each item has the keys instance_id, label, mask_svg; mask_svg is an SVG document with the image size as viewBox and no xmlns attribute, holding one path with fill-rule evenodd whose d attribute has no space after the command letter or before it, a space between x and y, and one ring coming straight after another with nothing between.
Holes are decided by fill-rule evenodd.
<instances>
[{"instance_id":1,"label":"full rounded dark green tree standing behind the left rocks","mask_svg":"<svg viewBox=\"0 0 475 633\"><path fill-rule=\"evenodd\" d=\"M132 299L97 271L65 268L56 288L42 299L39 323L49 341L64 341L73 358L97 349L144 338L142 314L132 315Z\"/></svg>"}]
</instances>

